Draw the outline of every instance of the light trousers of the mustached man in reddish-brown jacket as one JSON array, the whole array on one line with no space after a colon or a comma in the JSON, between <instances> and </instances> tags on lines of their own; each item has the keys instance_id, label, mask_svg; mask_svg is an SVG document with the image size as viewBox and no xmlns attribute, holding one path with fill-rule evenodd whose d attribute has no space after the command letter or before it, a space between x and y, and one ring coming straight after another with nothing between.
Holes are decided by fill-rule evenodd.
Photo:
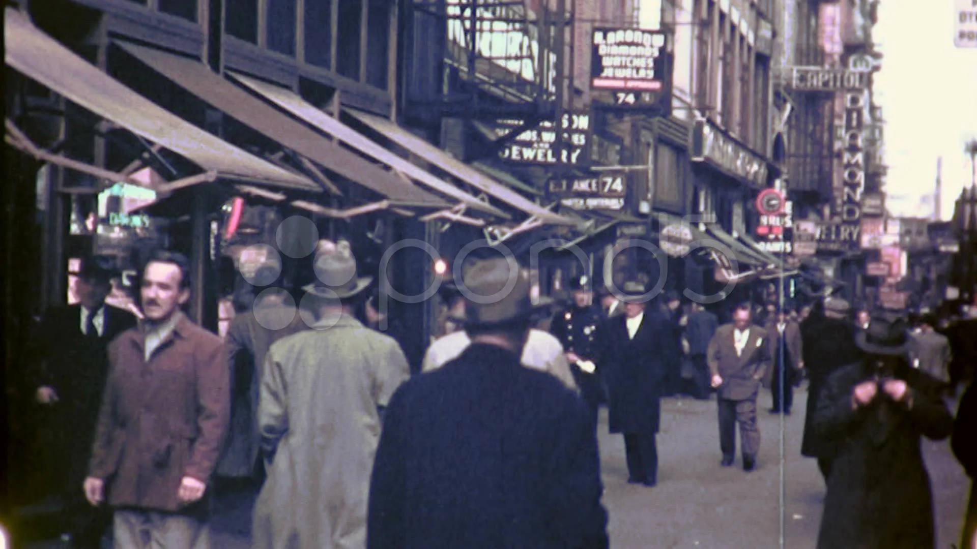
<instances>
[{"instance_id":1,"label":"light trousers of the mustached man in reddish-brown jacket","mask_svg":"<svg viewBox=\"0 0 977 549\"><path fill-rule=\"evenodd\" d=\"M112 531L117 549L210 549L207 523L189 515L117 509Z\"/></svg>"}]
</instances>

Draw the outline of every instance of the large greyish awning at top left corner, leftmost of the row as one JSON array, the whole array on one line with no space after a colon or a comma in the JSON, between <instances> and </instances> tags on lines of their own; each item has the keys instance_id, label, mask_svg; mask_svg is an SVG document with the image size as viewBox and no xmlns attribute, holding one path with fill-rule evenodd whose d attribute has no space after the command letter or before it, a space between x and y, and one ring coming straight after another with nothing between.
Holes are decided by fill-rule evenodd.
<instances>
[{"instance_id":1,"label":"large greyish awning at top left corner, leftmost of the row","mask_svg":"<svg viewBox=\"0 0 977 549\"><path fill-rule=\"evenodd\" d=\"M156 106L65 48L17 10L7 8L4 15L4 58L7 65L71 102L159 146L181 154L211 172L208 177L194 176L196 179L191 183L223 177L284 188L321 190L308 178L236 148ZM9 126L10 124L8 130ZM16 141L14 136L8 135L8 142L12 138ZM38 157L42 160L58 163L58 158L55 158L57 155L50 152L32 152L41 154ZM94 166L92 168L94 170L85 170L82 167L82 171L93 173L101 170ZM106 172L97 177L109 178L112 175Z\"/></svg>"}]
</instances>

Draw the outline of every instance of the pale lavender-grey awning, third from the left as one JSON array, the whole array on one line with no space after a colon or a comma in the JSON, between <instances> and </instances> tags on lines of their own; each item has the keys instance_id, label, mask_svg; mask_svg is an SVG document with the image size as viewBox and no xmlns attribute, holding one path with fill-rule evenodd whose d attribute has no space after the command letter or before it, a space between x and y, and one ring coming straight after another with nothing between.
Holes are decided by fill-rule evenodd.
<instances>
[{"instance_id":1,"label":"pale lavender-grey awning, third from the left","mask_svg":"<svg viewBox=\"0 0 977 549\"><path fill-rule=\"evenodd\" d=\"M241 82L248 88L254 90L261 96L274 103L276 106L287 110L301 120L316 126L323 132L331 135L335 139L360 150L363 154L370 156L377 161L390 166L404 174L404 176L427 186L431 190L445 194L446 196L458 200L467 207L480 210L497 217L508 219L509 216L502 210L480 200L463 190L458 189L446 181L438 179L423 168L410 163L408 160L398 156L393 151L384 148L378 143L370 140L360 132L340 122L336 118L326 114L319 107L302 99L295 92L262 82L255 78L228 71L235 80Z\"/></svg>"}]
</instances>

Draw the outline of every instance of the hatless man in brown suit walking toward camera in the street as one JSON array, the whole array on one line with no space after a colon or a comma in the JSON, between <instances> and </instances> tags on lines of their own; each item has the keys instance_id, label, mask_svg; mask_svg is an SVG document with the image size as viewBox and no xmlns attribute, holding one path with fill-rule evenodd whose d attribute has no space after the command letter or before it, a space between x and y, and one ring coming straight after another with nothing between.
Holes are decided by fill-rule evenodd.
<instances>
[{"instance_id":1,"label":"hatless man in brown suit walking toward camera in the street","mask_svg":"<svg viewBox=\"0 0 977 549\"><path fill-rule=\"evenodd\" d=\"M756 467L760 430L756 424L756 397L760 380L770 367L767 331L752 323L749 304L736 308L733 322L719 326L709 342L709 370L719 404L719 445L723 467L736 457L736 424L740 424L743 471Z\"/></svg>"}]
</instances>

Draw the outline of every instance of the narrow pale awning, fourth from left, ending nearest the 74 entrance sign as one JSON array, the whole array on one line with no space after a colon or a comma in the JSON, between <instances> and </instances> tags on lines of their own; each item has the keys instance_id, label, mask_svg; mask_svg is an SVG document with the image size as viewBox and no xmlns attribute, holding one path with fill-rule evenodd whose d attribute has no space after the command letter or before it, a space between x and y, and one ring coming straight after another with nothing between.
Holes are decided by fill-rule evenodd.
<instances>
[{"instance_id":1,"label":"narrow pale awning, fourth from left, ending nearest the 74 entrance sign","mask_svg":"<svg viewBox=\"0 0 977 549\"><path fill-rule=\"evenodd\" d=\"M484 173L465 164L464 162L461 162L460 160L453 158L444 150L437 148L423 139L411 134L401 126L398 126L386 118L366 114L360 111L348 110L347 112L361 120L361 122L367 126L383 134L394 143L410 150L428 162L435 164L439 168L471 185L475 189L482 190L483 192L494 196L502 202L505 202L510 206L529 214L532 218L535 218L543 224L575 225L575 222L572 219L560 214L556 214L543 206L536 204L529 198L526 198L515 190L511 190L501 183L492 180Z\"/></svg>"}]
</instances>

